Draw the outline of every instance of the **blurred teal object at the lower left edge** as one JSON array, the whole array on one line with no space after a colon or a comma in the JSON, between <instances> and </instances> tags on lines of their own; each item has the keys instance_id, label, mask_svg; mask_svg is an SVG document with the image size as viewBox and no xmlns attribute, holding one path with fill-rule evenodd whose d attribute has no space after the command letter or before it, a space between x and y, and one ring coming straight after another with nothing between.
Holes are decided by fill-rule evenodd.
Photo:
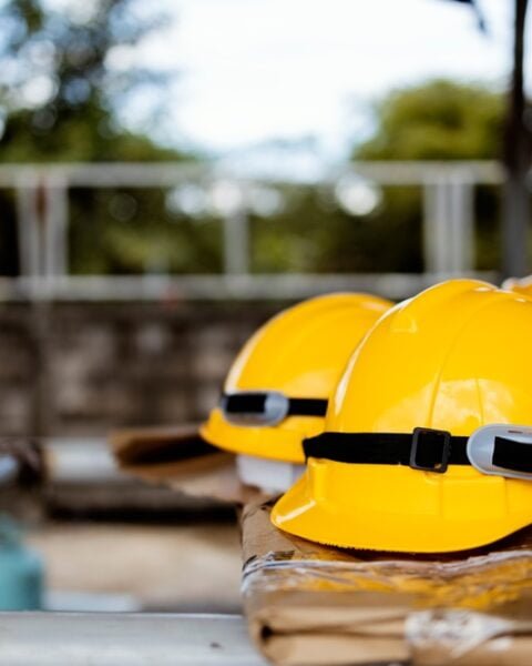
<instances>
[{"instance_id":1,"label":"blurred teal object at the lower left edge","mask_svg":"<svg viewBox=\"0 0 532 666\"><path fill-rule=\"evenodd\" d=\"M0 516L0 610L42 608L44 567L27 548L17 524Z\"/></svg>"}]
</instances>

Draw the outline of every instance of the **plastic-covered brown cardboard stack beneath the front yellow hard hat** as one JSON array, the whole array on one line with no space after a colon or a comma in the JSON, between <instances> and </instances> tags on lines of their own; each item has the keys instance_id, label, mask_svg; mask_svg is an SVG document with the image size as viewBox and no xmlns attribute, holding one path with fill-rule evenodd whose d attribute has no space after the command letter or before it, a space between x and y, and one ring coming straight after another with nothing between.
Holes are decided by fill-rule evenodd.
<instances>
[{"instance_id":1,"label":"plastic-covered brown cardboard stack beneath the front yellow hard hat","mask_svg":"<svg viewBox=\"0 0 532 666\"><path fill-rule=\"evenodd\" d=\"M530 663L532 532L462 556L329 548L242 513L243 595L258 649L279 666Z\"/></svg>"}]
</instances>

